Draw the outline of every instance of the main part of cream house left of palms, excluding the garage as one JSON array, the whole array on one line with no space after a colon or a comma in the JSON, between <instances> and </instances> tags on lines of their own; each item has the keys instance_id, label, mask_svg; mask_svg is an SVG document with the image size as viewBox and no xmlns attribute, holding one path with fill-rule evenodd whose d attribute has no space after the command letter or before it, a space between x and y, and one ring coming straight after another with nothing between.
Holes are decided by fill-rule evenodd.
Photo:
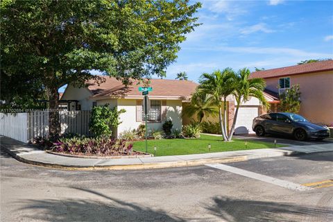
<instances>
[{"instance_id":1,"label":"main part of cream house left of palms, excluding the garage","mask_svg":"<svg viewBox=\"0 0 333 222\"><path fill-rule=\"evenodd\" d=\"M100 85L88 81L87 87L77 88L68 85L62 100L76 100L78 105L69 104L69 110L91 110L95 105L109 104L110 108L124 109L120 115L121 124L114 135L119 136L124 130L137 129L144 123L142 101L144 96L139 92L141 84L135 81L127 87L116 78L104 76L105 83ZM189 80L151 79L149 92L151 109L148 114L148 128L161 130L167 119L173 122L173 129L182 130L182 105L191 99L197 84Z\"/></svg>"}]
</instances>

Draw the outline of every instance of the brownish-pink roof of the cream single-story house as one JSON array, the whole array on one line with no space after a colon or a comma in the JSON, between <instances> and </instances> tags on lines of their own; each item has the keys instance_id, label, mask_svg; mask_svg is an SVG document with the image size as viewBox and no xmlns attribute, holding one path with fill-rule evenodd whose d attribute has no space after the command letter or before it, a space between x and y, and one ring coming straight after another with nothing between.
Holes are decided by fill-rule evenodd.
<instances>
[{"instance_id":1,"label":"brownish-pink roof of the cream single-story house","mask_svg":"<svg viewBox=\"0 0 333 222\"><path fill-rule=\"evenodd\" d=\"M134 81L132 85L127 87L113 77L103 76L106 81L97 85L94 80L87 82L88 89L92 94L92 97L104 97L104 96L142 96L142 92L139 92L139 87L143 85L137 85L137 81ZM153 87L153 91L149 92L150 96L171 96L171 97L189 97L196 91L198 84L190 80L167 80L167 79L151 79L149 87Z\"/></svg>"}]
</instances>

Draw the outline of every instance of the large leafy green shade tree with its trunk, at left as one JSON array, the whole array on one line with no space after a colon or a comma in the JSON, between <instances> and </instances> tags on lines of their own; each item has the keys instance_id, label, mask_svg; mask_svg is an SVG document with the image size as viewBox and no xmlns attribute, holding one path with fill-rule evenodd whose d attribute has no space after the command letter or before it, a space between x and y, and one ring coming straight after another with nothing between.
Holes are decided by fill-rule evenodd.
<instances>
[{"instance_id":1,"label":"large leafy green shade tree with its trunk, at left","mask_svg":"<svg viewBox=\"0 0 333 222\"><path fill-rule=\"evenodd\" d=\"M58 89L115 76L123 83L164 76L197 26L188 0L1 1L1 71L24 71L49 98L51 137L60 133ZM6 87L1 85L1 87Z\"/></svg>"}]
</instances>

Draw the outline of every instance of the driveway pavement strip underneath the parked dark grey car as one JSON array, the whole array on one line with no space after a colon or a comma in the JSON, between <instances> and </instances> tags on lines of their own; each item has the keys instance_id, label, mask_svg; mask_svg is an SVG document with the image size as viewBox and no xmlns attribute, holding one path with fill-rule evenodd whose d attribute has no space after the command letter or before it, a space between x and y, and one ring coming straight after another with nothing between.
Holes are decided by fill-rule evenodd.
<instances>
[{"instance_id":1,"label":"driveway pavement strip underneath the parked dark grey car","mask_svg":"<svg viewBox=\"0 0 333 222\"><path fill-rule=\"evenodd\" d=\"M273 136L273 135L265 135L264 137L258 137L255 134L235 135L234 138L246 139L246 140L259 140L262 142L271 142L271 143L274 143L274 140L276 139L276 142L278 144L286 144L288 146L307 146L307 145L316 145L316 144L332 144L332 146L333 146L332 138L324 139L322 141L316 141L314 139L307 140L307 141L297 141L296 139L293 139L292 137L285 137L285 136L279 137L279 136Z\"/></svg>"}]
</instances>

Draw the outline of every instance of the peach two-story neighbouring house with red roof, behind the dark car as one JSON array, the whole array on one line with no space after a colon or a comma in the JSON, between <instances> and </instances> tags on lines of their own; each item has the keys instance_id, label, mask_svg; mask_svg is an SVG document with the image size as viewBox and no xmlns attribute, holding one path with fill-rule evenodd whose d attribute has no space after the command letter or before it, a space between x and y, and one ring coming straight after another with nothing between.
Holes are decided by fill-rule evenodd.
<instances>
[{"instance_id":1,"label":"peach two-story neighbouring house with red roof, behind the dark car","mask_svg":"<svg viewBox=\"0 0 333 222\"><path fill-rule=\"evenodd\" d=\"M266 80L265 92L275 96L271 111L279 111L278 95L300 85L300 114L314 123L333 126L333 60L255 71L252 78Z\"/></svg>"}]
</instances>

